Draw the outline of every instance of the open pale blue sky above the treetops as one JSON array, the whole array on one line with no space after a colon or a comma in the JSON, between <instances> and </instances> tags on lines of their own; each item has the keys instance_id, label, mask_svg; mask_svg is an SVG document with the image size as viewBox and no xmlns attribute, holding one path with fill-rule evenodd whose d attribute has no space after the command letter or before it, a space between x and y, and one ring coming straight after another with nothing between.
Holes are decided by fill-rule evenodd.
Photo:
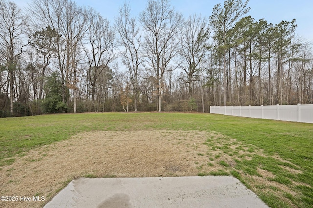
<instances>
[{"instance_id":1,"label":"open pale blue sky above the treetops","mask_svg":"<svg viewBox=\"0 0 313 208\"><path fill-rule=\"evenodd\" d=\"M20 7L31 0L12 0ZM112 24L118 9L125 0L74 0L80 6L92 6L106 17ZM144 10L147 0L126 0L130 2L132 14L138 16ZM214 5L224 0L171 0L172 6L185 17L200 13L209 17ZM296 19L296 33L306 40L313 41L313 0L250 0L248 15L259 20L264 18L268 23L277 24L282 20Z\"/></svg>"}]
</instances>

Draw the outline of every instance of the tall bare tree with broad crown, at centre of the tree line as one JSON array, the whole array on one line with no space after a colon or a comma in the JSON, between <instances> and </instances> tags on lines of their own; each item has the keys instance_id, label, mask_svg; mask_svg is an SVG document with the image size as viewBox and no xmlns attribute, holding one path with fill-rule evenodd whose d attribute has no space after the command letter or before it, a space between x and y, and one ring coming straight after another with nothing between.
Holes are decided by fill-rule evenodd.
<instances>
[{"instance_id":1,"label":"tall bare tree with broad crown, at centre of the tree line","mask_svg":"<svg viewBox=\"0 0 313 208\"><path fill-rule=\"evenodd\" d=\"M163 76L166 70L170 70L170 61L177 54L177 35L183 18L170 6L169 0L149 0L140 14L140 21L146 31L144 56L156 76L158 111L161 112Z\"/></svg>"}]
</instances>

